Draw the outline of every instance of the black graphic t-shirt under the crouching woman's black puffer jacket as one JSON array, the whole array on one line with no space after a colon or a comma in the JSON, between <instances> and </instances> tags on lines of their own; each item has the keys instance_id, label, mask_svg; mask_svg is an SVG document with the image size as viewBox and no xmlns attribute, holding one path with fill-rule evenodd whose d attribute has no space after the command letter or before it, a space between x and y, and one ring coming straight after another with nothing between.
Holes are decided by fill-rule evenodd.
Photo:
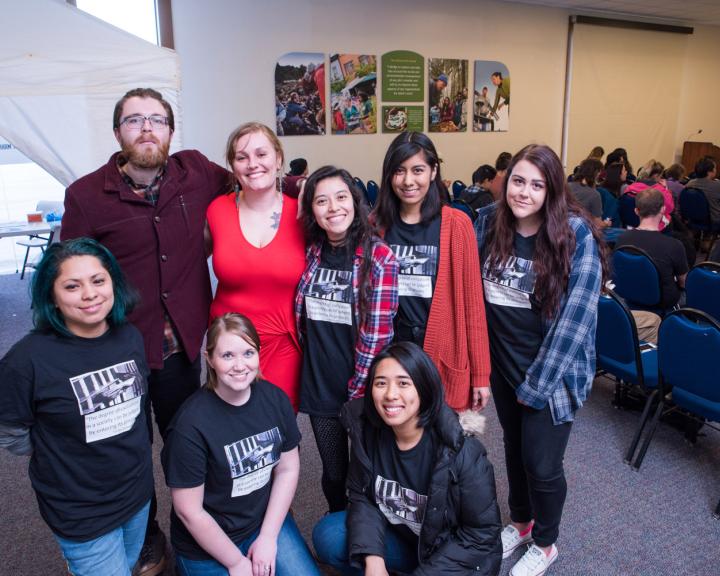
<instances>
[{"instance_id":1,"label":"black graphic t-shirt under the crouching woman's black puffer jacket","mask_svg":"<svg viewBox=\"0 0 720 576\"><path fill-rule=\"evenodd\" d=\"M425 430L410 450L400 450L386 427L368 434L366 444L375 470L375 503L397 533L417 545L435 459L432 432Z\"/></svg>"}]
</instances>

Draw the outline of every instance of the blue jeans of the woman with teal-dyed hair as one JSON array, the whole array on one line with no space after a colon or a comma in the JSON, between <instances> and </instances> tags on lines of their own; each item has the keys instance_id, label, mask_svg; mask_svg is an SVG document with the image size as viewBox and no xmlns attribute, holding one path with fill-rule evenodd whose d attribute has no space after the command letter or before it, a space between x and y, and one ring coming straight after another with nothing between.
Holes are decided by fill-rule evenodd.
<instances>
[{"instance_id":1,"label":"blue jeans of the woman with teal-dyed hair","mask_svg":"<svg viewBox=\"0 0 720 576\"><path fill-rule=\"evenodd\" d=\"M140 557L149 510L148 501L127 522L87 542L68 540L54 534L68 571L73 576L130 576Z\"/></svg>"}]
</instances>

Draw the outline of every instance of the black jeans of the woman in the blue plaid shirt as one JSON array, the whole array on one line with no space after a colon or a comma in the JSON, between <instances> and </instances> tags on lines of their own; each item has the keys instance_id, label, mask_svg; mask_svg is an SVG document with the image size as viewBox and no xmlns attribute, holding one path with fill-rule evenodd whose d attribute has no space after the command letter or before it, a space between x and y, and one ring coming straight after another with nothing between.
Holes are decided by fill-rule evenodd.
<instances>
[{"instance_id":1,"label":"black jeans of the woman in the blue plaid shirt","mask_svg":"<svg viewBox=\"0 0 720 576\"><path fill-rule=\"evenodd\" d=\"M534 519L535 543L550 546L558 537L567 494L563 457L572 422L555 426L549 404L535 410L518 403L510 383L495 373L490 384L503 429L510 518L518 523Z\"/></svg>"}]
</instances>

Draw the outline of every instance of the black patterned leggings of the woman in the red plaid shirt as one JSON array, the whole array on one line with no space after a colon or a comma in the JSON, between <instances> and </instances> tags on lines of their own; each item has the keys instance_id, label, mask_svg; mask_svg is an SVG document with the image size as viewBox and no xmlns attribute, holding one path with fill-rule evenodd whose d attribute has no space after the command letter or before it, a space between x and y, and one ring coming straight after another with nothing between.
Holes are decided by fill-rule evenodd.
<instances>
[{"instance_id":1,"label":"black patterned leggings of the woman in the red plaid shirt","mask_svg":"<svg viewBox=\"0 0 720 576\"><path fill-rule=\"evenodd\" d=\"M330 512L347 507L348 437L339 418L310 416L310 425L323 465L322 489Z\"/></svg>"}]
</instances>

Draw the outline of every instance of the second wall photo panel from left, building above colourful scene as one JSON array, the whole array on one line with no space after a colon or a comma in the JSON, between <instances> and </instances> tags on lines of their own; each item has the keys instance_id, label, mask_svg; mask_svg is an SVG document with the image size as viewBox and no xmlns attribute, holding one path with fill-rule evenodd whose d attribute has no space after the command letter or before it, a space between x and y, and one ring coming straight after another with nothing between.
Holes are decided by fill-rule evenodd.
<instances>
[{"instance_id":1,"label":"second wall photo panel from left, building above colourful scene","mask_svg":"<svg viewBox=\"0 0 720 576\"><path fill-rule=\"evenodd\" d=\"M330 55L333 134L377 132L377 59L367 54Z\"/></svg>"}]
</instances>

